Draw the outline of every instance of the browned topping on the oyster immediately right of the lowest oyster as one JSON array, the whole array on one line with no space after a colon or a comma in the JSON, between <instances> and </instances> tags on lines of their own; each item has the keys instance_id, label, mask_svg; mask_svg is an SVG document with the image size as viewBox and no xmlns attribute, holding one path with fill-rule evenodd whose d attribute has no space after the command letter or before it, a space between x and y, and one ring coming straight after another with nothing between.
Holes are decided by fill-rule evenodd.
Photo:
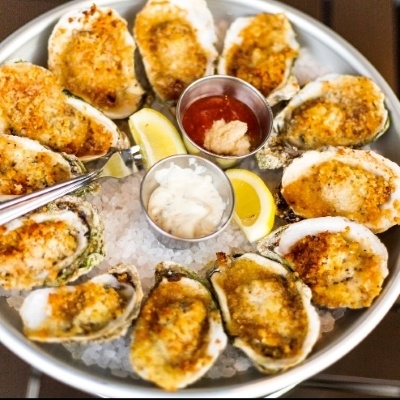
<instances>
[{"instance_id":1,"label":"browned topping on the oyster immediately right of the lowest oyster","mask_svg":"<svg viewBox=\"0 0 400 400\"><path fill-rule=\"evenodd\" d=\"M297 357L309 324L293 277L246 258L236 259L228 267L221 264L223 259L218 261L218 266L228 270L216 272L212 282L225 297L229 335L265 357Z\"/></svg>"}]
</instances>

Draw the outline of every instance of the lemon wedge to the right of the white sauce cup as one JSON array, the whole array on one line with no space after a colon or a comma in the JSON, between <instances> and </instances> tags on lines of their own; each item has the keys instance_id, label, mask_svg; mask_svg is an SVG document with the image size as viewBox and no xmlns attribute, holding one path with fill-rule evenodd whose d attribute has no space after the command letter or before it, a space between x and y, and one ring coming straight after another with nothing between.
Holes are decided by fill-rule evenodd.
<instances>
[{"instance_id":1,"label":"lemon wedge to the right of the white sauce cup","mask_svg":"<svg viewBox=\"0 0 400 400\"><path fill-rule=\"evenodd\" d=\"M233 220L249 242L256 242L270 233L274 226L274 197L256 173L240 168L228 169L225 172L235 193Z\"/></svg>"}]
</instances>

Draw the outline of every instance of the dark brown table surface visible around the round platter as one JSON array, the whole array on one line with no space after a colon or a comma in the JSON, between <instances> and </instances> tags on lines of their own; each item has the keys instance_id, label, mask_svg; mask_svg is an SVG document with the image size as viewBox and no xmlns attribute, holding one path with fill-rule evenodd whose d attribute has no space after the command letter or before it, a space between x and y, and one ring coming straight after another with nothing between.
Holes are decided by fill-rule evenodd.
<instances>
[{"instance_id":1,"label":"dark brown table surface visible around the round platter","mask_svg":"<svg viewBox=\"0 0 400 400\"><path fill-rule=\"evenodd\" d=\"M395 91L397 88L397 41L395 37L396 9L391 0L285 0L314 18L326 23L342 35L371 62ZM65 0L0 0L0 42L36 16L66 3ZM327 4L330 3L330 4ZM362 4L362 7L360 7ZM368 5L368 7L365 7ZM353 19L352 19L353 18ZM354 19L355 18L355 19ZM384 19L385 23L382 23ZM378 23L379 20L379 23ZM374 45L375 43L375 45ZM378 45L382 44L384 45ZM315 378L357 377L373 384L393 384L400 391L400 312L394 307L355 349ZM1 338L0 338L1 340ZM388 382L390 380L390 382ZM383 392L332 390L304 382L282 397L400 397ZM355 387L353 385L353 387ZM46 374L32 370L0 344L0 397L92 397L64 385Z\"/></svg>"}]
</instances>

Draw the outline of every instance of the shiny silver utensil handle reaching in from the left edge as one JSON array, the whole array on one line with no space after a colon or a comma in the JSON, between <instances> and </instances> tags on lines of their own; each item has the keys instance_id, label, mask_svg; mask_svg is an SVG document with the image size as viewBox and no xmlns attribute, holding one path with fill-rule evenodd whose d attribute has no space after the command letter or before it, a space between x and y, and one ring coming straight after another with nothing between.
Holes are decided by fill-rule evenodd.
<instances>
[{"instance_id":1,"label":"shiny silver utensil handle reaching in from the left edge","mask_svg":"<svg viewBox=\"0 0 400 400\"><path fill-rule=\"evenodd\" d=\"M0 204L0 225L10 222L14 218L27 214L30 211L50 203L68 193L71 193L84 185L96 180L101 171L94 171L80 175L68 181L58 183L47 188L37 190L33 193L18 196Z\"/></svg>"}]
</instances>

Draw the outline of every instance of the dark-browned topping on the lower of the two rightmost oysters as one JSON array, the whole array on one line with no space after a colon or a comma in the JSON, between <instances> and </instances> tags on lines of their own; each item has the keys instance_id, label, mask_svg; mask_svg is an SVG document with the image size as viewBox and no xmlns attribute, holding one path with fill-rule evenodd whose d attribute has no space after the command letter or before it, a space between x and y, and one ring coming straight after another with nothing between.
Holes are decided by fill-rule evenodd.
<instances>
[{"instance_id":1,"label":"dark-browned topping on the lower of the two rightmost oysters","mask_svg":"<svg viewBox=\"0 0 400 400\"><path fill-rule=\"evenodd\" d=\"M381 292L381 255L352 239L349 229L305 236L284 254L319 306L369 307Z\"/></svg>"}]
</instances>

